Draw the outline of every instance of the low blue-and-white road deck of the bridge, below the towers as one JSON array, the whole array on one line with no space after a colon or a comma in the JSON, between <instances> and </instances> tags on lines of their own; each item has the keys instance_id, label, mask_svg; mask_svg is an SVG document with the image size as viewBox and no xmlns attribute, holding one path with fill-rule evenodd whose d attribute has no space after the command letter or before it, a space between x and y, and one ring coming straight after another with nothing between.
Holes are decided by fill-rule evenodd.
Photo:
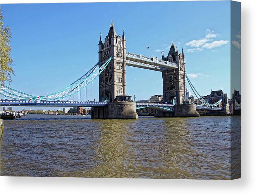
<instances>
[{"instance_id":1,"label":"low blue-and-white road deck of the bridge, below the towers","mask_svg":"<svg viewBox=\"0 0 256 195\"><path fill-rule=\"evenodd\" d=\"M46 100L8 100L1 99L1 106L43 106L43 107L96 107L96 106L106 106L107 102L96 102L96 101L46 101ZM158 103L136 103L136 109L147 108L147 107L155 107L156 109L161 109L164 111L173 112L174 105L173 104L158 104ZM201 110L215 110L222 111L222 108L215 108L209 106L199 106L196 105L196 109Z\"/></svg>"}]
</instances>

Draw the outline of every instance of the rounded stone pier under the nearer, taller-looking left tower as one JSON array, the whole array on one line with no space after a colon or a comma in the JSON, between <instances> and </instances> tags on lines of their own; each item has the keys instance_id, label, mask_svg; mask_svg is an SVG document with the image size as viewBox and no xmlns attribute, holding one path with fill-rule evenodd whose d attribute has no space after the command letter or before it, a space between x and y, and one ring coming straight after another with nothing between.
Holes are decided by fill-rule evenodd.
<instances>
[{"instance_id":1,"label":"rounded stone pier under the nearer, taller-looking left tower","mask_svg":"<svg viewBox=\"0 0 256 195\"><path fill-rule=\"evenodd\" d=\"M137 119L135 102L110 102L107 106L92 107L92 119Z\"/></svg>"}]
</instances>

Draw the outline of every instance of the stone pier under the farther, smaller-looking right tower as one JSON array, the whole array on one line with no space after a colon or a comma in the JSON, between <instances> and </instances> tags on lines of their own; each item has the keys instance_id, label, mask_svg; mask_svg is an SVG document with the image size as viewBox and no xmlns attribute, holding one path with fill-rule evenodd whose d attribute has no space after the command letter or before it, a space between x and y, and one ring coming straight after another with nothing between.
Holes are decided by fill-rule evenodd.
<instances>
[{"instance_id":1,"label":"stone pier under the farther, smaller-looking right tower","mask_svg":"<svg viewBox=\"0 0 256 195\"><path fill-rule=\"evenodd\" d=\"M155 117L199 117L196 111L196 105L176 104L173 113L167 113L160 110L156 111Z\"/></svg>"}]
</instances>

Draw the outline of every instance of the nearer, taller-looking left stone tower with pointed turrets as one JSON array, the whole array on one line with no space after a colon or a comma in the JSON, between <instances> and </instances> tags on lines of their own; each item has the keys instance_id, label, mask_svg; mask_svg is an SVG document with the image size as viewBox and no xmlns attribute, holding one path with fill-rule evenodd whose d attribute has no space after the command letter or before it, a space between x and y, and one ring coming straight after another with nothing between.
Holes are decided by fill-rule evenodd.
<instances>
[{"instance_id":1,"label":"nearer, taller-looking left stone tower with pointed turrets","mask_svg":"<svg viewBox=\"0 0 256 195\"><path fill-rule=\"evenodd\" d=\"M117 35L114 24L111 22L104 43L100 35L98 53L99 67L112 56L112 60L105 72L103 71L99 77L99 101L108 99L108 101L112 102L116 96L126 94L126 40L124 29L122 37Z\"/></svg>"}]
</instances>

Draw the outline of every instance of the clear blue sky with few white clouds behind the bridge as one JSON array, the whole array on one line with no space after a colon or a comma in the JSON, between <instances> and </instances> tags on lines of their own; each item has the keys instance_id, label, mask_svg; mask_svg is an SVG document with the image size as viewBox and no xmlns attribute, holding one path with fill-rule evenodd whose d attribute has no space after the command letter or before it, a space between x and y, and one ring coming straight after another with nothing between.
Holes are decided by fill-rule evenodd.
<instances>
[{"instance_id":1,"label":"clear blue sky with few white clouds behind the bridge","mask_svg":"<svg viewBox=\"0 0 256 195\"><path fill-rule=\"evenodd\" d=\"M98 61L100 32L105 37L113 20L117 34L125 29L127 52L147 55L148 46L149 56L161 58L160 50L167 54L173 41L179 52L184 48L186 72L201 95L223 88L230 97L229 1L2 4L1 9L12 28L11 86L19 91L45 95L82 76ZM98 100L98 79L92 88L87 99ZM127 94L149 99L162 93L161 72L127 67Z\"/></svg>"}]
</instances>

